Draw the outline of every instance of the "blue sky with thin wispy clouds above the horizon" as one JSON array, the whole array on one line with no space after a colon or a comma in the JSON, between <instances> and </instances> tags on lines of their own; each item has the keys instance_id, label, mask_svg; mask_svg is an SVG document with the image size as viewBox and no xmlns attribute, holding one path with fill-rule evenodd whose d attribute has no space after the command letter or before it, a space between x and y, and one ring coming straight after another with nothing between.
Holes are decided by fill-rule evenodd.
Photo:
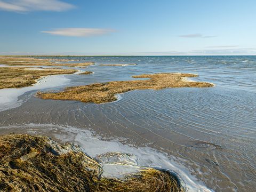
<instances>
[{"instance_id":1,"label":"blue sky with thin wispy clouds above the horizon","mask_svg":"<svg viewBox=\"0 0 256 192\"><path fill-rule=\"evenodd\" d=\"M0 0L0 55L256 55L255 0Z\"/></svg>"}]
</instances>

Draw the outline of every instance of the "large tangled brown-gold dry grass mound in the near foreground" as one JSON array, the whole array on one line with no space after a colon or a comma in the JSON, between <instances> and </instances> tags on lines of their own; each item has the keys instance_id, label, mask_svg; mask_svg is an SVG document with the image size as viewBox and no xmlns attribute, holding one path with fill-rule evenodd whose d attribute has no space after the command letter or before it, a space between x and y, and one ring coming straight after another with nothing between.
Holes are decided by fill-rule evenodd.
<instances>
[{"instance_id":1,"label":"large tangled brown-gold dry grass mound in the near foreground","mask_svg":"<svg viewBox=\"0 0 256 192\"><path fill-rule=\"evenodd\" d=\"M101 173L100 164L74 145L41 136L0 136L0 191L183 191L165 171L146 169L125 181Z\"/></svg>"}]
</instances>

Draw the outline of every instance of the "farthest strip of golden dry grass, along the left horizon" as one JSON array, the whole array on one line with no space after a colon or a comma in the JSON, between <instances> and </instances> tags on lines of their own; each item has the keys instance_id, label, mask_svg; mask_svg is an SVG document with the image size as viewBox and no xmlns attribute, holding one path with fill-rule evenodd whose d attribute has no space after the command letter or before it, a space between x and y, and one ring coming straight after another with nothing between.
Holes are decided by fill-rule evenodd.
<instances>
[{"instance_id":1,"label":"farthest strip of golden dry grass, along the left horizon","mask_svg":"<svg viewBox=\"0 0 256 192\"><path fill-rule=\"evenodd\" d=\"M66 66L66 67L87 67L94 65L94 62L65 63L67 59L38 59L33 57L0 57L0 64L8 66Z\"/></svg>"}]
</instances>

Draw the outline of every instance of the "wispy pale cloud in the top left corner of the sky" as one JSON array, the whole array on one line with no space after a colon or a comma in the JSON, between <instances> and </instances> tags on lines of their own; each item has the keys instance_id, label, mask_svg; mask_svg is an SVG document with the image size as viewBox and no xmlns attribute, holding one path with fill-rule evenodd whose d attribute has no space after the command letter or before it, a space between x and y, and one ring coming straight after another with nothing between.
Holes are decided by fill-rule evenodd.
<instances>
[{"instance_id":1,"label":"wispy pale cloud in the top left corner of the sky","mask_svg":"<svg viewBox=\"0 0 256 192\"><path fill-rule=\"evenodd\" d=\"M59 0L0 0L0 10L14 12L66 11L75 6Z\"/></svg>"}]
</instances>

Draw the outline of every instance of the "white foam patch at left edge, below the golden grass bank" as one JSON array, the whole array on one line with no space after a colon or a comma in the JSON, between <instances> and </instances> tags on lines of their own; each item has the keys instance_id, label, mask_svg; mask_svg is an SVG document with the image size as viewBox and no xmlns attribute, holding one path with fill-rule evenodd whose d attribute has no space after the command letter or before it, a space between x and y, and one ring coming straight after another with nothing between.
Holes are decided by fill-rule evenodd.
<instances>
[{"instance_id":1,"label":"white foam patch at left edge, below the golden grass bank","mask_svg":"<svg viewBox=\"0 0 256 192\"><path fill-rule=\"evenodd\" d=\"M25 102L26 99L19 99L19 96L26 92L65 85L69 81L70 79L66 78L65 75L53 75L45 76L39 79L33 86L23 87L20 89L1 89L0 111L21 106L21 104Z\"/></svg>"}]
</instances>

